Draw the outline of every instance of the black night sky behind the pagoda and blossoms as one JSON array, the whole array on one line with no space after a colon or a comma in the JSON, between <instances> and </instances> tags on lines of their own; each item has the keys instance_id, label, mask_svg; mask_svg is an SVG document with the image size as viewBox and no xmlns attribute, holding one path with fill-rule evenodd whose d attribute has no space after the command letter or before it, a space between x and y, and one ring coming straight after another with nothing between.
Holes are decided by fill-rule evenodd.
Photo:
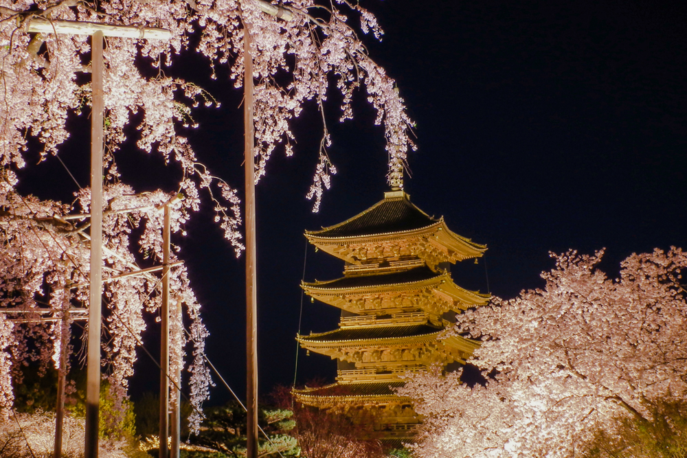
<instances>
[{"instance_id":1,"label":"black night sky behind the pagoda and blossoms","mask_svg":"<svg viewBox=\"0 0 687 458\"><path fill-rule=\"evenodd\" d=\"M453 268L457 284L510 298L543 284L539 273L553 266L549 251L606 248L602 268L613 276L631 253L687 249L687 3L370 0L363 6L385 30L382 43L368 37L370 54L396 79L417 122L419 149L409 158L406 192L453 231L488 246L479 264ZM226 71L211 81L209 71L197 70L201 64L188 55L170 71L194 78L223 102L201 109L201 127L189 135L199 159L242 189L241 94ZM304 267L306 281L343 271L342 261L306 251L303 231L346 220L387 190L383 131L372 124L362 93L359 100L357 119L346 124L338 124L336 98L330 100L329 151L339 173L319 214L304 198L322 129L314 105L295 124L295 157L275 153L258 184L261 394L293 382ZM82 183L87 141L75 136L60 153ZM124 181L139 190L174 190L177 176L169 178L159 157L124 148L117 162ZM47 192L45 183L53 181ZM49 159L23 174L20 189L67 200L75 190L70 183ZM204 307L207 354L243 397L243 259L236 260L207 208L186 229L188 236L174 242ZM304 334L336 328L338 309L306 297L302 311ZM152 323L146 336L154 350ZM140 358L134 390L155 389L157 374L145 354ZM301 352L299 383L334 376L329 358ZM211 402L228 399L218 383Z\"/></svg>"}]
</instances>

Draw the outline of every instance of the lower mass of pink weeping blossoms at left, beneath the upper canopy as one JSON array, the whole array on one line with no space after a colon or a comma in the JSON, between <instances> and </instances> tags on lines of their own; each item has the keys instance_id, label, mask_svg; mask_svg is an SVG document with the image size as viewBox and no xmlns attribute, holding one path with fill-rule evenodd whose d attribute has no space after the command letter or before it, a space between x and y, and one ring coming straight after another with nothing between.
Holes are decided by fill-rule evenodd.
<instances>
[{"instance_id":1,"label":"lower mass of pink weeping blossoms at left, beneath the upper canopy","mask_svg":"<svg viewBox=\"0 0 687 458\"><path fill-rule=\"evenodd\" d=\"M21 367L36 361L41 370L59 367L63 345L69 345L69 320L63 321L65 309L83 308L89 297L89 225L90 193L82 190L74 208L15 192L0 194L0 415L8 417L12 407L12 378L21 382ZM162 261L162 219L159 205L170 198L163 192L135 194L121 183L104 187L103 280L104 339L106 378L115 403L115 415L106 419L118 424L122 402L128 396L128 379L137 360L136 349L143 343L146 314L155 316L161 304L159 277L152 274L128 275L139 270L139 263ZM181 203L170 205L172 232L181 231ZM74 213L77 213L74 215ZM131 239L136 227L144 227L141 238ZM137 254L139 253L139 254ZM175 253L171 262L178 259ZM174 304L181 304L192 328L203 328L200 305L190 288L185 267L171 268L170 288ZM69 296L67 297L67 290ZM47 298L47 303L45 302ZM45 307L45 306L49 307ZM85 310L84 310L85 311ZM71 316L71 315L70 315ZM172 367L184 367L186 345L201 347L207 333L196 332L194 341L181 332L183 319L172 319ZM45 318L54 321L45 321ZM148 320L149 321L149 320ZM200 409L208 396L210 374L202 358L185 366L194 375L190 382L190 400Z\"/></svg>"}]
</instances>

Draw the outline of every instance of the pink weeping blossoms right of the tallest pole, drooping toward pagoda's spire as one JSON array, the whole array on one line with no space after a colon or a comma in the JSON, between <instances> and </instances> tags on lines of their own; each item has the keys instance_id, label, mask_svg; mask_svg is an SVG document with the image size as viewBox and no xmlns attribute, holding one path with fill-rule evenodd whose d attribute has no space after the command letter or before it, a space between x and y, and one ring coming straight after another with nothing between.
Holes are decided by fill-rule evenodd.
<instances>
[{"instance_id":1,"label":"pink weeping blossoms right of the tallest pole, drooping toward pagoda's spire","mask_svg":"<svg viewBox=\"0 0 687 458\"><path fill-rule=\"evenodd\" d=\"M380 38L382 31L374 16L359 5L348 5L352 12L360 14L363 32L372 31ZM324 176L336 173L326 152L331 140L326 128L324 102L329 95L328 75L335 75L337 90L342 95L340 120L352 117L352 96L358 87L365 87L368 101L376 111L375 124L383 124L387 140L390 172L387 175L392 187L403 188L403 170L407 152L415 145L409 138L413 122L405 112L403 99L398 95L394 80L387 76L384 69L376 65L365 51L365 47L347 23L347 16L340 10L324 8L311 1L284 3L293 14L293 19L285 23L273 16L262 13L258 3L245 2L243 21L251 33L251 54L254 58L256 76L256 157L258 170L256 179L265 173L267 161L275 147L286 142L286 154L291 154L290 141L293 133L289 121L300 114L304 102L315 100L323 113L324 133L319 151L315 178L308 198L315 199L314 211L319 208L322 192L328 188L329 181ZM311 16L313 11L324 10L328 18ZM331 7L333 8L333 7ZM199 49L205 49L201 43ZM219 54L218 48L214 48ZM239 58L234 63L233 75L240 82L243 73L243 42L234 42L234 52ZM282 73L289 73L292 79L285 86L278 84Z\"/></svg>"}]
</instances>

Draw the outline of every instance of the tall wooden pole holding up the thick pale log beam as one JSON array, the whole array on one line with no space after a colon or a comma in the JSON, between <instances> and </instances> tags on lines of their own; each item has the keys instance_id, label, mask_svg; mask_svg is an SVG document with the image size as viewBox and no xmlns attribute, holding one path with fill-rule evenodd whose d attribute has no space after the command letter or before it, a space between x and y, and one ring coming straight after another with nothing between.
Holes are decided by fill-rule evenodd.
<instances>
[{"instance_id":1,"label":"tall wooden pole holding up the thick pale log beam","mask_svg":"<svg viewBox=\"0 0 687 458\"><path fill-rule=\"evenodd\" d=\"M85 458L98 458L102 295L102 32L91 36L91 282L88 323Z\"/></svg>"}]
</instances>

